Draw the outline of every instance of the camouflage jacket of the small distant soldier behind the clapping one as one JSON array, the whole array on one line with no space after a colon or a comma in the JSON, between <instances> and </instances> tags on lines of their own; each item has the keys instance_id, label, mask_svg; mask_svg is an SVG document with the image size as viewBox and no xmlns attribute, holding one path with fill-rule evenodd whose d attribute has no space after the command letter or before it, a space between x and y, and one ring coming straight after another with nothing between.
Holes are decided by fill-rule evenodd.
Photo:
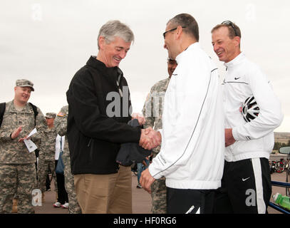
<instances>
[{"instance_id":1,"label":"camouflage jacket of the small distant soldier behind the clapping one","mask_svg":"<svg viewBox=\"0 0 290 228\"><path fill-rule=\"evenodd\" d=\"M56 155L56 128L47 128L43 130L41 138L41 147L39 148L39 159L54 160Z\"/></svg>"}]
</instances>

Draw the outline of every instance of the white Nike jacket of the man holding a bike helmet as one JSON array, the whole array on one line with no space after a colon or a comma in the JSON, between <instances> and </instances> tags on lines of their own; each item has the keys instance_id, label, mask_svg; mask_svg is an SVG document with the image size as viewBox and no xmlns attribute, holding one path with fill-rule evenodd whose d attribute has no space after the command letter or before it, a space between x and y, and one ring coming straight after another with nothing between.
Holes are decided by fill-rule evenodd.
<instances>
[{"instance_id":1,"label":"white Nike jacket of the man holding a bike helmet","mask_svg":"<svg viewBox=\"0 0 290 228\"><path fill-rule=\"evenodd\" d=\"M273 131L283 120L281 104L264 73L244 53L224 65L227 67L222 83L225 128L232 128L234 139L237 140L226 147L225 160L234 162L254 157L269 159L274 146ZM257 118L247 123L240 107L252 95L257 101L260 113Z\"/></svg>"}]
</instances>

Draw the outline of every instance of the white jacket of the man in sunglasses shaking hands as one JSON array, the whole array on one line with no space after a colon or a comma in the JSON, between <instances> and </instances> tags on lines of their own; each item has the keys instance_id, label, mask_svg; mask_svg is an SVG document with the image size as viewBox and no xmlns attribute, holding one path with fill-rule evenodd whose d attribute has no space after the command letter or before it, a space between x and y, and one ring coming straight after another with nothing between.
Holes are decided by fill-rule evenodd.
<instances>
[{"instance_id":1,"label":"white jacket of the man in sunglasses shaking hands","mask_svg":"<svg viewBox=\"0 0 290 228\"><path fill-rule=\"evenodd\" d=\"M165 93L162 145L149 172L166 186L210 190L221 185L224 113L217 67L193 43L180 53Z\"/></svg>"}]
</instances>

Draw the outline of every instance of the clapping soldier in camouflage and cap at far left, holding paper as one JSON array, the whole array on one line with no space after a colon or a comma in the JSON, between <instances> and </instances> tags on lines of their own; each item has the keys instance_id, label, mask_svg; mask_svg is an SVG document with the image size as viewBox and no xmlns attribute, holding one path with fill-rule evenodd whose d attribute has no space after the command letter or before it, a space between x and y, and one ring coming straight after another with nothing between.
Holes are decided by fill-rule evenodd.
<instances>
[{"instance_id":1,"label":"clapping soldier in camouflage and cap at far left, holding paper","mask_svg":"<svg viewBox=\"0 0 290 228\"><path fill-rule=\"evenodd\" d=\"M46 126L39 108L34 118L28 103L31 91L34 91L31 81L17 80L14 100L6 103L0 128L0 213L11 213L14 195L18 198L19 213L34 213L31 194L36 187L36 156L29 152L24 139L36 128L38 133L31 140L40 140Z\"/></svg>"}]
</instances>

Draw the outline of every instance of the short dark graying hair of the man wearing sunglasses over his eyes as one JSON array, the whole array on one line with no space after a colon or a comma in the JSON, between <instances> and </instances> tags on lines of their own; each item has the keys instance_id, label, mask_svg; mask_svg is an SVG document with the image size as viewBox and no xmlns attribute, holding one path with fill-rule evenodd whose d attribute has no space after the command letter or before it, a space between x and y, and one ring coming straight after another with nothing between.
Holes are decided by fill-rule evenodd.
<instances>
[{"instance_id":1,"label":"short dark graying hair of the man wearing sunglasses over his eyes","mask_svg":"<svg viewBox=\"0 0 290 228\"><path fill-rule=\"evenodd\" d=\"M195 18L191 16L190 14L178 14L174 18L170 19L167 22L167 25L168 24L173 25L175 27L177 26L185 27L182 29L182 31L195 37L197 42L199 41L200 33L199 33L198 24Z\"/></svg>"}]
</instances>

